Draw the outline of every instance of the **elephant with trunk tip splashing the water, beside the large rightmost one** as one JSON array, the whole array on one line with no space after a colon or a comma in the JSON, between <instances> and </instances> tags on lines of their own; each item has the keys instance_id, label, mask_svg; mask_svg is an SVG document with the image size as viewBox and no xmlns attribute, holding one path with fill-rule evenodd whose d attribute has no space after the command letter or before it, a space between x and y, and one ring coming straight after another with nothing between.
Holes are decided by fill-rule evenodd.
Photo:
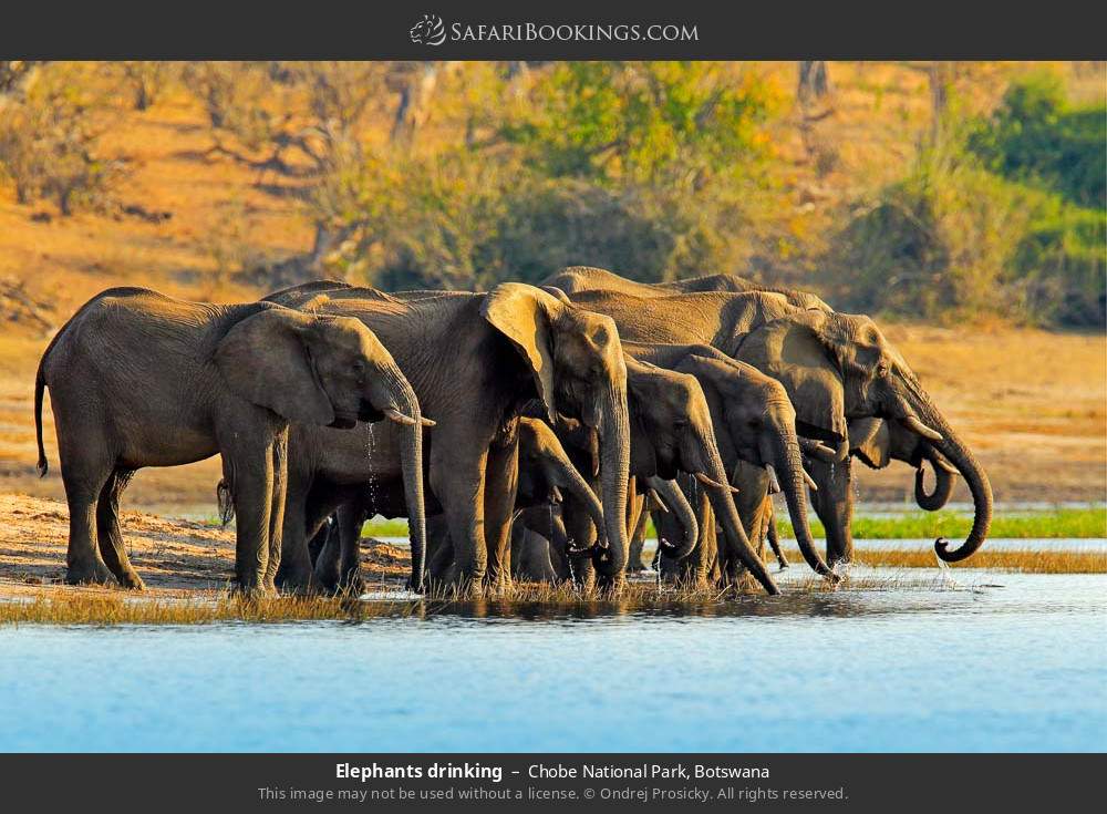
<instances>
[{"instance_id":1,"label":"elephant with trunk tip splashing the water, beside the large rightmost one","mask_svg":"<svg viewBox=\"0 0 1107 814\"><path fill-rule=\"evenodd\" d=\"M745 462L751 465L748 468L765 473L756 482L753 478L733 481L738 487L735 502L739 516L759 516L770 484L775 491L783 490L804 558L818 574L829 576L830 570L819 557L808 526L805 487L814 482L804 468L803 456L806 451L813 457L816 454L832 457L834 452L817 442L800 441L796 434L796 410L784 385L710 346L627 341L623 350L635 359L696 379L707 400L726 472L735 472L739 462ZM693 497L689 499L694 506ZM701 516L701 526L703 523ZM747 519L745 530L749 539L755 540L759 539L763 528ZM780 556L778 549L777 556ZM664 559L663 556L662 561Z\"/></svg>"}]
</instances>

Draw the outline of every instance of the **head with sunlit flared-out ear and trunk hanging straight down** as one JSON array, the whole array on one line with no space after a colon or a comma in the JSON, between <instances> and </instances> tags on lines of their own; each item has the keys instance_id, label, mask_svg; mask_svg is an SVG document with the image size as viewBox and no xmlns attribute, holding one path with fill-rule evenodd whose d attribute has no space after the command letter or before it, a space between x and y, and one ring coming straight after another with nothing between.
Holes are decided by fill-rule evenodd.
<instances>
[{"instance_id":1,"label":"head with sunlit flared-out ear and trunk hanging straight down","mask_svg":"<svg viewBox=\"0 0 1107 814\"><path fill-rule=\"evenodd\" d=\"M526 360L550 423L560 412L596 431L608 544L596 556L596 568L621 578L629 550L630 423L627 365L614 322L519 282L493 289L482 313Z\"/></svg>"}]
</instances>

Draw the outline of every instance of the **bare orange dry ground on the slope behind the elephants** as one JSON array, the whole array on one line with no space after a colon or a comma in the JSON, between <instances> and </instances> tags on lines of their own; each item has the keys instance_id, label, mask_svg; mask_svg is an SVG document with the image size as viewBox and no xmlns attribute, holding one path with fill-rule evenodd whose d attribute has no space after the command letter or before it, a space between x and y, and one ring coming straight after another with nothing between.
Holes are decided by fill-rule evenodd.
<instances>
[{"instance_id":1,"label":"bare orange dry ground on the slope behind the elephants","mask_svg":"<svg viewBox=\"0 0 1107 814\"><path fill-rule=\"evenodd\" d=\"M919 65L832 63L832 107L809 111L811 121L794 102L794 63L759 70L779 91L785 114L768 130L779 158L773 206L744 227L744 255L755 268L765 246L776 246L778 257L816 253L846 202L899 177L931 116ZM961 83L960 99L969 112L989 110L1011 76L1025 70L989 63ZM1077 97L1103 92L1101 71L1057 70ZM377 141L394 105L394 97L382 100L368 113ZM49 410L51 472L42 481L34 476L33 373L52 331L87 297L131 284L194 299L250 298L263 285L246 270L312 245L313 226L299 203L302 179L213 152L205 112L184 87L162 89L142 111L121 91L116 107L116 126L104 132L102 148L125 159L115 192L123 208L61 217L52 203L19 204L13 189L0 185L0 492L63 494ZM433 115L420 135L423 143L446 137L452 134ZM126 206L169 217L127 214ZM1000 501L1107 496L1107 343L1100 332L890 324L888 333L980 451ZM218 476L215 461L147 470L126 501L214 514ZM862 472L860 482L861 499L898 501L909 495L911 473L893 464ZM954 499L968 495L959 491Z\"/></svg>"}]
</instances>

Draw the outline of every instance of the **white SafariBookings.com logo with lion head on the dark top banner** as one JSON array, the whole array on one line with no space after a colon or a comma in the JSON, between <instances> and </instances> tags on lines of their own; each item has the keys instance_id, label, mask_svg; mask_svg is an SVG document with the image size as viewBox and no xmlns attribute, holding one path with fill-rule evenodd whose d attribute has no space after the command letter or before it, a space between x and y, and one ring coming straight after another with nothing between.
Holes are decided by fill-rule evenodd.
<instances>
[{"instance_id":1,"label":"white SafariBookings.com logo with lion head on the dark top banner","mask_svg":"<svg viewBox=\"0 0 1107 814\"><path fill-rule=\"evenodd\" d=\"M437 14L423 14L408 34L417 45L451 42L699 42L689 23L463 23L447 28Z\"/></svg>"}]
</instances>

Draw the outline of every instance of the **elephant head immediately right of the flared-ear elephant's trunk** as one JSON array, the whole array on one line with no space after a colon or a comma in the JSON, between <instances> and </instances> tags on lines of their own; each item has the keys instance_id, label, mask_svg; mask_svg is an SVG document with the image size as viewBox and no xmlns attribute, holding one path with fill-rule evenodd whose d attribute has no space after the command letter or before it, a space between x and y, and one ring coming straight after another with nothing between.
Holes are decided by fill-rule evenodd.
<instances>
[{"instance_id":1,"label":"elephant head immediately right of the flared-ear elephant's trunk","mask_svg":"<svg viewBox=\"0 0 1107 814\"><path fill-rule=\"evenodd\" d=\"M749 569L769 594L777 594L764 563L751 547L738 518L716 446L711 412L692 375L627 359L631 414L631 472L670 481L687 472L703 484L723 527L730 554ZM798 453L797 453L798 455ZM686 554L686 552L685 552Z\"/></svg>"}]
</instances>

